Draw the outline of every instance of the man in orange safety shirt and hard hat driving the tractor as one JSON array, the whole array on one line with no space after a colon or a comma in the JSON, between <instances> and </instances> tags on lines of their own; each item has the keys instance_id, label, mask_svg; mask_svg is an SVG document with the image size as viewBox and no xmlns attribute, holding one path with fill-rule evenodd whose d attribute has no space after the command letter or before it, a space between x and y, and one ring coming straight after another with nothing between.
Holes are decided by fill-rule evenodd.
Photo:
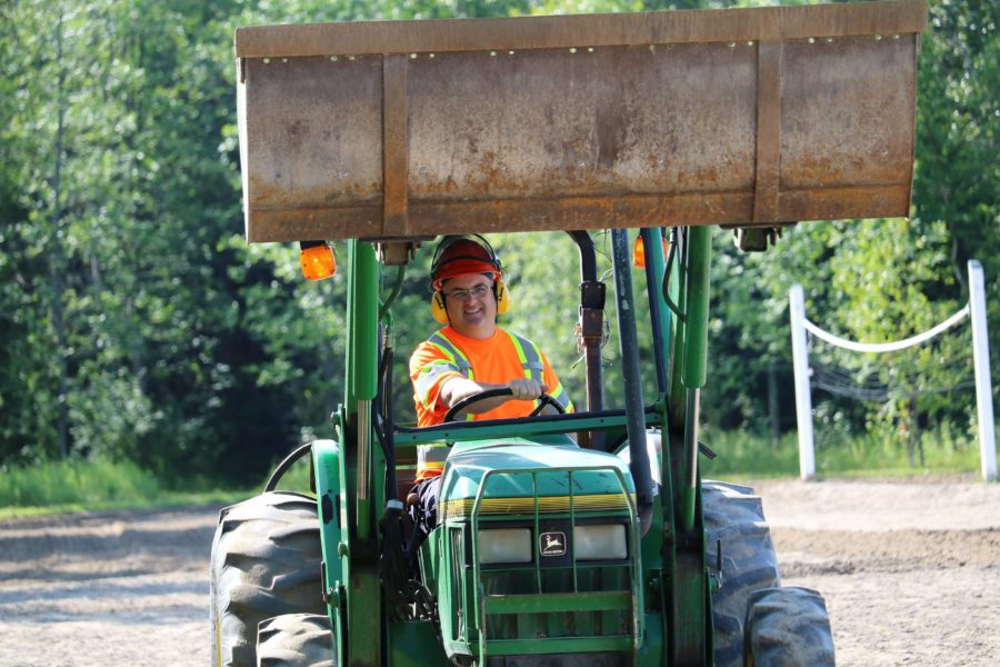
<instances>
[{"instance_id":1,"label":"man in orange safety shirt and hard hat driving the tractor","mask_svg":"<svg viewBox=\"0 0 1000 667\"><path fill-rule=\"evenodd\" d=\"M462 399L499 388L510 389L510 396L474 401L456 420L527 417L542 394L572 411L569 395L538 346L497 326L497 315L507 311L510 295L500 260L484 238L444 237L431 262L430 288L434 319L447 326L410 357L418 426L441 424ZM554 411L551 406L544 410ZM416 506L419 499L423 511L414 519L424 534L434 525L447 454L443 447L418 449L417 481L421 484L408 500Z\"/></svg>"}]
</instances>

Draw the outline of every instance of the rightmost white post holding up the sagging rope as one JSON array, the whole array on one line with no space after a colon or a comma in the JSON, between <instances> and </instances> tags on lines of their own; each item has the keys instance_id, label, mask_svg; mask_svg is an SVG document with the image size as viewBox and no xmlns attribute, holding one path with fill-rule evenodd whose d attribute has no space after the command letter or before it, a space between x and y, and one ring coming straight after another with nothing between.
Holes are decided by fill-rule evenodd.
<instances>
[{"instance_id":1,"label":"rightmost white post holding up the sagging rope","mask_svg":"<svg viewBox=\"0 0 1000 667\"><path fill-rule=\"evenodd\" d=\"M976 367L976 409L979 414L979 450L982 477L997 479L997 441L993 428L993 390L990 381L990 345L987 334L986 285L982 265L969 260L969 310L972 320L972 364Z\"/></svg>"}]
</instances>

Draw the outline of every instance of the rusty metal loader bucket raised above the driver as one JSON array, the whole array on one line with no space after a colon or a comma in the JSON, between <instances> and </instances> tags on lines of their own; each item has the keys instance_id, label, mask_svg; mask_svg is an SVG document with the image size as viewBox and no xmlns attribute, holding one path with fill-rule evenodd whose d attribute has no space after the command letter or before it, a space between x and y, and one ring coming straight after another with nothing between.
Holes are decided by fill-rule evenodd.
<instances>
[{"instance_id":1,"label":"rusty metal loader bucket raised above the driver","mask_svg":"<svg viewBox=\"0 0 1000 667\"><path fill-rule=\"evenodd\" d=\"M906 216L924 0L236 32L250 241Z\"/></svg>"}]
</instances>

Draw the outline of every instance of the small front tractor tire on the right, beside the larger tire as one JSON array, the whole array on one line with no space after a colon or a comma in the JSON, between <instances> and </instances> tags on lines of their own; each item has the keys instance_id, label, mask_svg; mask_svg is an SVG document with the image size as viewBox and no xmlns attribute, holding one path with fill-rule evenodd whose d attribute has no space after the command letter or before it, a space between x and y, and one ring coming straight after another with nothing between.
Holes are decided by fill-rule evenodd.
<instances>
[{"instance_id":1,"label":"small front tractor tire on the right, beside the larger tire","mask_svg":"<svg viewBox=\"0 0 1000 667\"><path fill-rule=\"evenodd\" d=\"M823 597L794 586L754 593L744 650L749 667L833 667L833 635Z\"/></svg>"}]
</instances>

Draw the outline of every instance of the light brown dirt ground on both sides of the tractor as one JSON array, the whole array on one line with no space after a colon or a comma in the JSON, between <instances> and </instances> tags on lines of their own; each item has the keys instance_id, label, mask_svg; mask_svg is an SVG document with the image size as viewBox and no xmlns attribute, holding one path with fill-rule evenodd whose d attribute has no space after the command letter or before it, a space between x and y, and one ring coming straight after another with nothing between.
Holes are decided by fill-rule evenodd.
<instances>
[{"instance_id":1,"label":"light brown dirt ground on both sides of the tractor","mask_svg":"<svg viewBox=\"0 0 1000 667\"><path fill-rule=\"evenodd\" d=\"M839 665L1000 664L1000 485L766 481L786 585ZM206 665L218 508L0 522L0 666Z\"/></svg>"}]
</instances>

